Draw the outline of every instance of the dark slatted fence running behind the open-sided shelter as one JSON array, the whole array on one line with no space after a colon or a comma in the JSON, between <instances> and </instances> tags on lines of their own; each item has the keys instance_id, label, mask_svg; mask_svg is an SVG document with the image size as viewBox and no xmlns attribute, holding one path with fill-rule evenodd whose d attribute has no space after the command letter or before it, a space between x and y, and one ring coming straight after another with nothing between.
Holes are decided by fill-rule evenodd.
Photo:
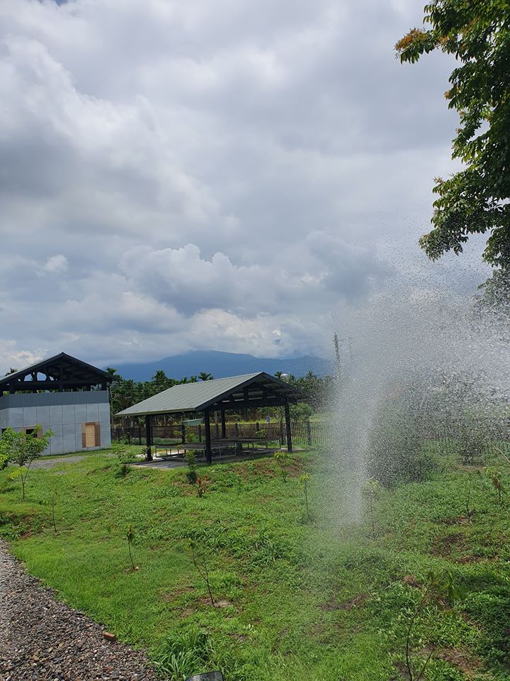
<instances>
[{"instance_id":1,"label":"dark slatted fence running behind the open-sided shelter","mask_svg":"<svg viewBox=\"0 0 510 681\"><path fill-rule=\"evenodd\" d=\"M280 447L287 445L285 423L227 423L227 438L267 438ZM290 433L293 444L297 447L313 447L327 445L331 435L328 423L310 423L310 421L292 421ZM186 426L187 442L203 442L205 440L204 426ZM152 442L155 445L170 445L182 442L183 431L180 424L172 426L152 426ZM145 426L124 428L112 426L112 441L127 441L132 445L145 445ZM211 423L211 438L221 438L219 423Z\"/></svg>"}]
</instances>

